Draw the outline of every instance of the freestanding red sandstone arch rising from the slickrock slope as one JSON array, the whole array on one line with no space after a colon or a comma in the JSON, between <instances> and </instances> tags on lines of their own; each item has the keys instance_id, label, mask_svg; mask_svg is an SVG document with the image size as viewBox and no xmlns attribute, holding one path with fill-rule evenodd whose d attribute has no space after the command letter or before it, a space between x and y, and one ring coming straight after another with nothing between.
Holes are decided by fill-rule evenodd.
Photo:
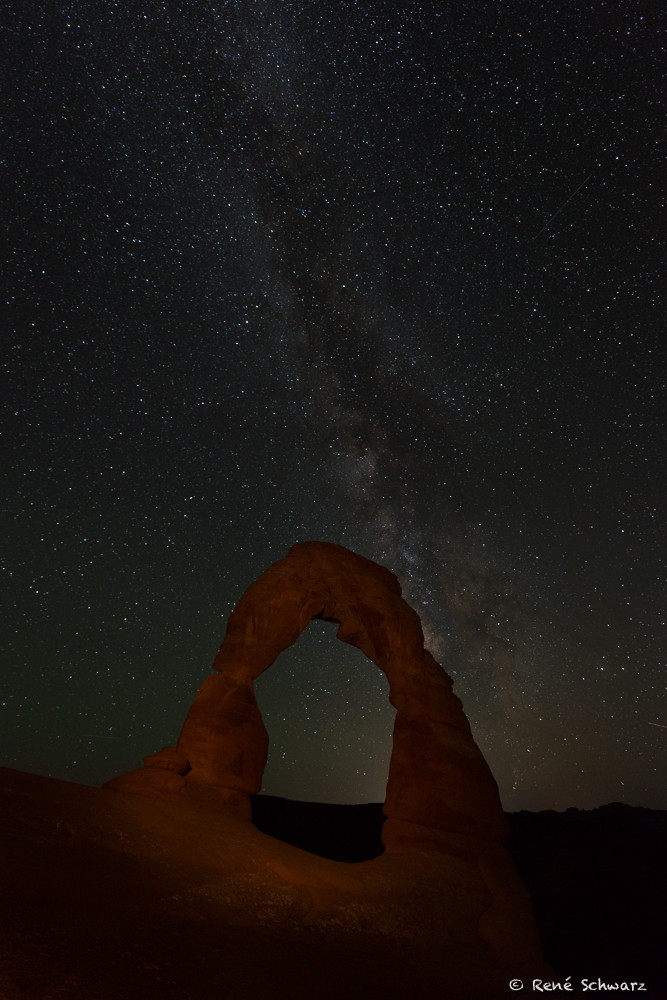
<instances>
[{"instance_id":1,"label":"freestanding red sandstone arch rising from the slickrock slope","mask_svg":"<svg viewBox=\"0 0 667 1000\"><path fill-rule=\"evenodd\" d=\"M385 567L325 542L300 542L246 590L230 615L211 674L176 747L109 782L117 789L216 797L250 817L268 736L253 681L313 618L384 671L396 709L384 803L389 851L451 849L452 838L507 836L497 785L475 744L452 682L424 649L417 613Z\"/></svg>"}]
</instances>

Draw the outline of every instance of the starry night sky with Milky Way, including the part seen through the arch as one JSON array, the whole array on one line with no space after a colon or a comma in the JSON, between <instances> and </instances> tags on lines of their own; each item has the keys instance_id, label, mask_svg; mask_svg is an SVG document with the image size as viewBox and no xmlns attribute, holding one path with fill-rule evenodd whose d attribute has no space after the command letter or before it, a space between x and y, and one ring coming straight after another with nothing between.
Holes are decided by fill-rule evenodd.
<instances>
[{"instance_id":1,"label":"starry night sky with Milky Way, including the part seen through the arch","mask_svg":"<svg viewBox=\"0 0 667 1000\"><path fill-rule=\"evenodd\" d=\"M388 566L506 809L667 807L659 5L0 14L0 760L173 744L292 544ZM384 797L384 676L313 622L264 790Z\"/></svg>"}]
</instances>

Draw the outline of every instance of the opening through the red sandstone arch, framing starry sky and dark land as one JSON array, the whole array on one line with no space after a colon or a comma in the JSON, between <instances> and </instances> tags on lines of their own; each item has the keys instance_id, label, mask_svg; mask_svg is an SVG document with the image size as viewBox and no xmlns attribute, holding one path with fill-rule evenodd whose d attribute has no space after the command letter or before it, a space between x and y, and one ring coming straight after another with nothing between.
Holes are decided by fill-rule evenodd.
<instances>
[{"instance_id":1,"label":"opening through the red sandstone arch, framing starry sky and dark land","mask_svg":"<svg viewBox=\"0 0 667 1000\"><path fill-rule=\"evenodd\" d=\"M312 619L254 682L269 749L252 816L311 854L367 861L384 850L396 710L384 673L337 627Z\"/></svg>"}]
</instances>

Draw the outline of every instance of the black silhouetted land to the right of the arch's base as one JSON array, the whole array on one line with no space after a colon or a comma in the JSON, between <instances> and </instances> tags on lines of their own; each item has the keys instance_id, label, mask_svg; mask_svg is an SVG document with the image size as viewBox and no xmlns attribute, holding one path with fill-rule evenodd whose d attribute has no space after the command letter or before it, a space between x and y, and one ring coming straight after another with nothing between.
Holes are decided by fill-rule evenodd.
<instances>
[{"instance_id":1,"label":"black silhouetted land to the right of the arch's base","mask_svg":"<svg viewBox=\"0 0 667 1000\"><path fill-rule=\"evenodd\" d=\"M667 997L667 811L616 802L507 819L556 971L575 982L641 979L644 995Z\"/></svg>"}]
</instances>

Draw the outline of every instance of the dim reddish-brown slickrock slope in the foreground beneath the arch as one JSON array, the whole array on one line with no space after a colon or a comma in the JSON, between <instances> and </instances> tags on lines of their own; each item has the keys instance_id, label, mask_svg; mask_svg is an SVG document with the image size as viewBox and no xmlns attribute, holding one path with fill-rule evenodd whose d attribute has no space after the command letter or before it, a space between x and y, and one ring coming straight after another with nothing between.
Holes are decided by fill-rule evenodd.
<instances>
[{"instance_id":1,"label":"dim reddish-brown slickrock slope in the foreground beneath the arch","mask_svg":"<svg viewBox=\"0 0 667 1000\"><path fill-rule=\"evenodd\" d=\"M484 1000L546 967L479 947L474 865L345 864L175 796L0 769L3 1000ZM488 896L487 896L488 902Z\"/></svg>"}]
</instances>

